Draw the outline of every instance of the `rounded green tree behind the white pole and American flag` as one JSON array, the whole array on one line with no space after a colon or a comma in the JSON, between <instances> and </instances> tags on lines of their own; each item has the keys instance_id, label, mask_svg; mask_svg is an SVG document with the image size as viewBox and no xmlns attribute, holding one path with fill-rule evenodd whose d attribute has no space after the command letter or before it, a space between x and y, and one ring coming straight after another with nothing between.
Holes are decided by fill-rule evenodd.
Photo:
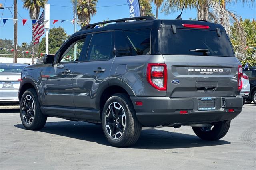
<instances>
[{"instance_id":1,"label":"rounded green tree behind the white pole and American flag","mask_svg":"<svg viewBox=\"0 0 256 170\"><path fill-rule=\"evenodd\" d=\"M66 34L64 28L51 28L49 30L49 53L55 54L60 46L67 40L68 35ZM45 51L45 37L42 38L39 48L40 53Z\"/></svg>"}]
</instances>

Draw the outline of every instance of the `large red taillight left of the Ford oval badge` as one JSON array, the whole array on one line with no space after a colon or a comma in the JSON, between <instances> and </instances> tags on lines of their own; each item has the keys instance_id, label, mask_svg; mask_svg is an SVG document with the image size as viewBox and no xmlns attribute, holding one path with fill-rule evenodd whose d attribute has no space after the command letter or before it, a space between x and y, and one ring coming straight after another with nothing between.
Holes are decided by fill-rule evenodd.
<instances>
[{"instance_id":1,"label":"large red taillight left of the Ford oval badge","mask_svg":"<svg viewBox=\"0 0 256 170\"><path fill-rule=\"evenodd\" d=\"M167 89L166 64L148 64L147 80L155 89L165 91Z\"/></svg>"}]
</instances>

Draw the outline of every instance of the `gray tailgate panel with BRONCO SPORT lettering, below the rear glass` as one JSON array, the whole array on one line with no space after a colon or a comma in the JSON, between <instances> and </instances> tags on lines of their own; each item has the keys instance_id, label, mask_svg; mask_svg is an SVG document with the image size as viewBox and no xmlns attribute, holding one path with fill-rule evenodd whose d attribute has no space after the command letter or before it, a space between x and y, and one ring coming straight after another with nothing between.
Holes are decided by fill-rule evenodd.
<instances>
[{"instance_id":1,"label":"gray tailgate panel with BRONCO SPORT lettering, below the rear glass","mask_svg":"<svg viewBox=\"0 0 256 170\"><path fill-rule=\"evenodd\" d=\"M235 57L163 56L168 68L166 96L224 97L238 94L238 62Z\"/></svg>"}]
</instances>

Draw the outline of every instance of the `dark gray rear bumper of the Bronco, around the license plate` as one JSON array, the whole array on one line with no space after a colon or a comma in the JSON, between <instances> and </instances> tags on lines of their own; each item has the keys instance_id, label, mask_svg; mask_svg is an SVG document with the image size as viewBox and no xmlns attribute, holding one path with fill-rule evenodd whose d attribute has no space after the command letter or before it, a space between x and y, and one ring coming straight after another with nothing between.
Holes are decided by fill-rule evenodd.
<instances>
[{"instance_id":1,"label":"dark gray rear bumper of the Bronco, around the license plate","mask_svg":"<svg viewBox=\"0 0 256 170\"><path fill-rule=\"evenodd\" d=\"M242 96L212 97L215 99L214 111L198 111L198 98L169 97L131 97L138 121L146 127L190 125L230 121L241 111ZM142 101L142 106L136 106L135 101ZM234 112L228 112L234 109ZM180 114L186 110L187 114Z\"/></svg>"}]
</instances>

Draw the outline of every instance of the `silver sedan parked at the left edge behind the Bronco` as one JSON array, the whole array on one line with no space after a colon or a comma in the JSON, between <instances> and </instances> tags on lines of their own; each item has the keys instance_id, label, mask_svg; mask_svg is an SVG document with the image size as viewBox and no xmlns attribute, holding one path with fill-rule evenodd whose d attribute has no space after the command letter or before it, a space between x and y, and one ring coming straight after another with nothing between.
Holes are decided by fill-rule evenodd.
<instances>
[{"instance_id":1,"label":"silver sedan parked at the left edge behind the Bronco","mask_svg":"<svg viewBox=\"0 0 256 170\"><path fill-rule=\"evenodd\" d=\"M21 70L27 64L0 63L0 105L19 103Z\"/></svg>"}]
</instances>

